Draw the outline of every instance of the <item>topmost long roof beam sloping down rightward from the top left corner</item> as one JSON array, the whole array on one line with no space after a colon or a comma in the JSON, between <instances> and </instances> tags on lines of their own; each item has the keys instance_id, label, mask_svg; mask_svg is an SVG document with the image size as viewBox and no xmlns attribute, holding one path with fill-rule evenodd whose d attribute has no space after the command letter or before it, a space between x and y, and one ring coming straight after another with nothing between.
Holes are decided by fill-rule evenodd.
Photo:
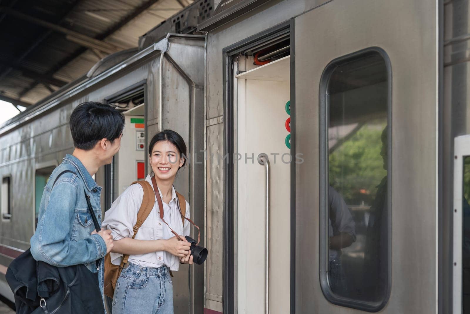
<instances>
[{"instance_id":1,"label":"topmost long roof beam sloping down rightward from the top left corner","mask_svg":"<svg viewBox=\"0 0 470 314\"><path fill-rule=\"evenodd\" d=\"M84 34L79 33L79 32L69 30L69 29L67 29L65 27L62 27L60 25L50 23L50 22L41 20L41 19L33 17L33 16L23 14L21 12L18 12L16 10L12 9L12 8L0 7L0 12L4 12L8 15L15 16L17 18L20 18L22 20L25 20L25 21L33 23L33 24L40 25L40 26L45 27L45 28L49 28L49 29L51 29L55 32L62 32L62 33L67 35L66 38L68 40L75 39L75 40L72 40L72 41L74 41L74 42L79 41L80 45L85 46L87 48L98 48L101 51L109 53L109 54L117 52L119 50L125 49L125 47L120 47L118 45L110 44L110 43L104 42L102 40L94 39L93 37L84 35Z\"/></svg>"}]
</instances>

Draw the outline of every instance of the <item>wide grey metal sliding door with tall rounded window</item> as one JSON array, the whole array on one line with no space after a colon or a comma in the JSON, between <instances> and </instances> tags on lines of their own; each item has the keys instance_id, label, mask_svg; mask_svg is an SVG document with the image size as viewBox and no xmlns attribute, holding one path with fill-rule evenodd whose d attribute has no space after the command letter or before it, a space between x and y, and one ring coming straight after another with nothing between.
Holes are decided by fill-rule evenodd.
<instances>
[{"instance_id":1,"label":"wide grey metal sliding door with tall rounded window","mask_svg":"<svg viewBox=\"0 0 470 314\"><path fill-rule=\"evenodd\" d=\"M294 26L291 312L437 313L438 1L335 0Z\"/></svg>"}]
</instances>

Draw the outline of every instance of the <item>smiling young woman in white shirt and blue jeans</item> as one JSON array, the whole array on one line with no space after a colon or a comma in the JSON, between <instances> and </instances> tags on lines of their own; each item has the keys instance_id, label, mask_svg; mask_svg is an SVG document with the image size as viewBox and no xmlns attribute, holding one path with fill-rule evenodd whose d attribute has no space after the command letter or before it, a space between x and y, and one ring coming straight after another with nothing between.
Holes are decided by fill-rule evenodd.
<instances>
[{"instance_id":1,"label":"smiling young woman in white shirt and blue jeans","mask_svg":"<svg viewBox=\"0 0 470 314\"><path fill-rule=\"evenodd\" d=\"M173 287L169 271L177 271L180 262L193 263L190 244L184 238L189 235L189 222L185 220L183 226L173 188L178 170L185 165L184 156L186 144L175 131L161 131L150 141L150 166L162 198L164 221L180 235L181 241L173 236L171 229L160 218L157 198L149 217L132 239L143 197L139 184L129 186L106 212L103 227L111 230L114 239L112 263L119 265L122 256L130 254L114 290L113 314L173 313ZM150 185L152 176L146 178ZM189 218L188 202L185 216Z\"/></svg>"}]
</instances>

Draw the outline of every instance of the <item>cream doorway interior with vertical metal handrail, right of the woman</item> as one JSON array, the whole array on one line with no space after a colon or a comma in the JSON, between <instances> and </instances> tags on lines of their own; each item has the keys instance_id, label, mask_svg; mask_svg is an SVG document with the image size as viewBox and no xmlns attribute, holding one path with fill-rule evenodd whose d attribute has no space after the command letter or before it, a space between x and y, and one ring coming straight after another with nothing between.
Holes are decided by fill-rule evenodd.
<instances>
[{"instance_id":1,"label":"cream doorway interior with vertical metal handrail, right of the woman","mask_svg":"<svg viewBox=\"0 0 470 314\"><path fill-rule=\"evenodd\" d=\"M235 61L239 314L290 309L289 33L273 42Z\"/></svg>"}]
</instances>

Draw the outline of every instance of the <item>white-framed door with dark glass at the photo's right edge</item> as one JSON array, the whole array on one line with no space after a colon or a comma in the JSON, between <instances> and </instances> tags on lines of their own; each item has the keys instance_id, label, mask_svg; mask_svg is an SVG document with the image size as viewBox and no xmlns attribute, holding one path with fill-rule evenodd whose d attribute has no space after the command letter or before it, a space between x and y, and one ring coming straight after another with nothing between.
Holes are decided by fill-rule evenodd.
<instances>
[{"instance_id":1,"label":"white-framed door with dark glass at the photo's right edge","mask_svg":"<svg viewBox=\"0 0 470 314\"><path fill-rule=\"evenodd\" d=\"M470 136L454 140L453 313L470 313Z\"/></svg>"}]
</instances>

